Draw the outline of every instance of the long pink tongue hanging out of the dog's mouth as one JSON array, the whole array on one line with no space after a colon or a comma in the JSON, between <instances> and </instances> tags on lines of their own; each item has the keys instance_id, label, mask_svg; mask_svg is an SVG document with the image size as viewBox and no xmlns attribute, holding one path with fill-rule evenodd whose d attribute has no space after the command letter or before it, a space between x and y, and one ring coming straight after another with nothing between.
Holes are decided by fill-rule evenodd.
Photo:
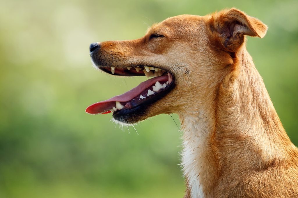
<instances>
[{"instance_id":1,"label":"long pink tongue hanging out of the dog's mouth","mask_svg":"<svg viewBox=\"0 0 298 198\"><path fill-rule=\"evenodd\" d=\"M103 113L110 113L111 109L113 107L116 107L115 102L128 102L134 97L138 96L142 93L146 88L154 85L157 81L167 81L169 80L169 83L172 81L172 76L165 75L165 76L159 76L154 77L149 80L146 80L145 82L142 82L137 87L131 89L130 91L125 92L124 94L114 96L110 99L107 99L105 101L97 102L94 104L91 104L89 107L87 107L86 112L90 114L103 114Z\"/></svg>"}]
</instances>

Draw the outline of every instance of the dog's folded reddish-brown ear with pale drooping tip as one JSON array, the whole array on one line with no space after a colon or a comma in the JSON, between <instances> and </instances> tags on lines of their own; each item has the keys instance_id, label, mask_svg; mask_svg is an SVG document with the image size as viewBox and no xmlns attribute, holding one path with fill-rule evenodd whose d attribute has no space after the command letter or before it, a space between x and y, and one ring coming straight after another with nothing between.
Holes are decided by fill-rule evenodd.
<instances>
[{"instance_id":1,"label":"dog's folded reddish-brown ear with pale drooping tip","mask_svg":"<svg viewBox=\"0 0 298 198\"><path fill-rule=\"evenodd\" d=\"M232 8L217 12L209 18L211 41L229 52L236 52L244 42L244 35L263 38L267 26L257 18Z\"/></svg>"}]
</instances>

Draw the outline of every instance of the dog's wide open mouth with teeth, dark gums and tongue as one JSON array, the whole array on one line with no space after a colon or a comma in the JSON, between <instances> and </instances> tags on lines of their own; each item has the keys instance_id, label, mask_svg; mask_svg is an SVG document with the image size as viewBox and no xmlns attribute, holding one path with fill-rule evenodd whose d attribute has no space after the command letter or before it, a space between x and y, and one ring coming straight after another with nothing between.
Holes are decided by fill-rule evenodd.
<instances>
[{"instance_id":1,"label":"dog's wide open mouth with teeth, dark gums and tongue","mask_svg":"<svg viewBox=\"0 0 298 198\"><path fill-rule=\"evenodd\" d=\"M113 117L121 114L135 113L145 110L151 104L164 97L174 87L174 78L167 70L153 66L135 67L99 67L104 72L119 76L153 77L124 94L114 96L102 102L91 104L86 112L89 114L113 113Z\"/></svg>"}]
</instances>

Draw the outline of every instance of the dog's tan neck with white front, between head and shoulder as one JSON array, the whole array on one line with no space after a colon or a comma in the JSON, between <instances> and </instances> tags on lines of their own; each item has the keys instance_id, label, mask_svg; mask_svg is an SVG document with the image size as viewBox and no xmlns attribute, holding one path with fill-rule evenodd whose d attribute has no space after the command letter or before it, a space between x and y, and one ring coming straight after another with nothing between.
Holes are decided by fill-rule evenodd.
<instances>
[{"instance_id":1,"label":"dog's tan neck with white front, between head and shoulder","mask_svg":"<svg viewBox=\"0 0 298 198\"><path fill-rule=\"evenodd\" d=\"M246 173L286 160L293 146L245 47L237 57L235 71L214 87L213 98L179 112L185 197L213 197Z\"/></svg>"}]
</instances>

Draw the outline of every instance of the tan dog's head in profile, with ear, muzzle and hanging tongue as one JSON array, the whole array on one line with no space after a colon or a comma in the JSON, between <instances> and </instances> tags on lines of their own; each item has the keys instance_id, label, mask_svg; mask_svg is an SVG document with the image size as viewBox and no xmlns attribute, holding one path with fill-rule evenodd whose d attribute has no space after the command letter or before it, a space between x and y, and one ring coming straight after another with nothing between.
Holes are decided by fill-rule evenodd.
<instances>
[{"instance_id":1,"label":"tan dog's head in profile, with ear, muzzle and hanging tongue","mask_svg":"<svg viewBox=\"0 0 298 198\"><path fill-rule=\"evenodd\" d=\"M99 69L153 78L86 112L112 112L115 120L132 124L161 113L191 111L211 99L215 85L232 72L245 35L263 37L266 30L260 20L229 9L171 17L136 40L93 43L90 56Z\"/></svg>"}]
</instances>

